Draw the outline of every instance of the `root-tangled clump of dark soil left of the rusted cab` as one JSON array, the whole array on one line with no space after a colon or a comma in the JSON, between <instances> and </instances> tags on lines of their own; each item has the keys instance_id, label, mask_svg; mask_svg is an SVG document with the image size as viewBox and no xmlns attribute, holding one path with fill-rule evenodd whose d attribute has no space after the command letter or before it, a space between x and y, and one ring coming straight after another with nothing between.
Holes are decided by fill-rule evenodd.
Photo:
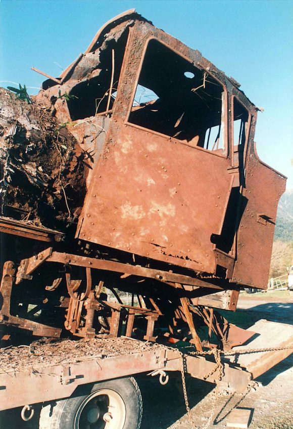
<instances>
[{"instance_id":1,"label":"root-tangled clump of dark soil left of the rusted cab","mask_svg":"<svg viewBox=\"0 0 293 429\"><path fill-rule=\"evenodd\" d=\"M85 196L78 143L51 110L0 88L1 215L64 229Z\"/></svg>"}]
</instances>

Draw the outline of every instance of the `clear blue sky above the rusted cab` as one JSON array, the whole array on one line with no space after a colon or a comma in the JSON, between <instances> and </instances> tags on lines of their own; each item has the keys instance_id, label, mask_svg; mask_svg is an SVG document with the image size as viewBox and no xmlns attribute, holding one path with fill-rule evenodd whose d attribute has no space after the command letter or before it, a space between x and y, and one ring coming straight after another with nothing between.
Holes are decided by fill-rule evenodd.
<instances>
[{"instance_id":1,"label":"clear blue sky above the rusted cab","mask_svg":"<svg viewBox=\"0 0 293 429\"><path fill-rule=\"evenodd\" d=\"M258 153L293 189L291 0L0 0L0 85L39 88L44 78L31 66L58 76L106 21L131 8L201 51L265 109Z\"/></svg>"}]
</instances>

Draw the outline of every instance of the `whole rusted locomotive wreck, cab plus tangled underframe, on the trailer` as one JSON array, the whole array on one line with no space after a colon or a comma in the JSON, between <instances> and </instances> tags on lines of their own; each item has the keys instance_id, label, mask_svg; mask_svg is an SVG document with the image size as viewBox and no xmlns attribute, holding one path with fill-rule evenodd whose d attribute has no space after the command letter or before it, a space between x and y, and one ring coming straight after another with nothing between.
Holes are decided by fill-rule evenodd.
<instances>
[{"instance_id":1,"label":"whole rusted locomotive wreck, cab plus tangled underframe, on the trailer","mask_svg":"<svg viewBox=\"0 0 293 429\"><path fill-rule=\"evenodd\" d=\"M130 10L37 101L76 139L86 189L67 200L60 186L63 228L0 219L2 338L134 335L198 351L250 338L214 309L235 311L241 285L266 288L285 178L257 156L258 109L239 84Z\"/></svg>"}]
</instances>

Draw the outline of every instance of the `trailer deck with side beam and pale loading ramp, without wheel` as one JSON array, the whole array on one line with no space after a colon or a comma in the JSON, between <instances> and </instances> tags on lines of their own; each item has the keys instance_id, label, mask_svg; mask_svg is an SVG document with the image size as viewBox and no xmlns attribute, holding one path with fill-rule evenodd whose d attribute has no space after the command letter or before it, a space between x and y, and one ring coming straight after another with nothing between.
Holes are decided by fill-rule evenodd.
<instances>
[{"instance_id":1,"label":"trailer deck with side beam and pale loading ramp, without wheel","mask_svg":"<svg viewBox=\"0 0 293 429\"><path fill-rule=\"evenodd\" d=\"M222 360L221 388L243 392L253 377L290 355L290 325L260 320L252 328L257 334L248 347L222 352L228 356ZM264 347L267 350L257 352ZM233 354L236 358L230 357L229 361ZM266 364L260 366L264 361ZM67 398L81 384L154 371L161 380L166 379L169 371L184 371L194 378L216 383L221 368L212 351L194 352L194 347L180 351L127 337L58 340L49 344L36 341L30 346L2 351L0 411Z\"/></svg>"}]
</instances>

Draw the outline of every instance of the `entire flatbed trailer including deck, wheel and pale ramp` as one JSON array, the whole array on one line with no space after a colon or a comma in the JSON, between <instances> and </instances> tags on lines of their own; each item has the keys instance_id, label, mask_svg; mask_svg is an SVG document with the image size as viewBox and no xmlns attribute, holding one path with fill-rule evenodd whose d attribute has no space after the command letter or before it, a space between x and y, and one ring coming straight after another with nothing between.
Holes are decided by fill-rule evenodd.
<instances>
[{"instance_id":1,"label":"entire flatbed trailer including deck, wheel and pale ramp","mask_svg":"<svg viewBox=\"0 0 293 429\"><path fill-rule=\"evenodd\" d=\"M142 400L133 377L139 374L158 376L165 384L169 374L181 373L183 391L187 373L221 389L244 392L253 377L286 358L293 346L289 325L259 321L251 329L256 331L251 345L229 352L198 352L186 346L182 352L126 337L8 347L2 351L0 370L0 427L10 427L5 410L22 407L24 423L35 408L40 411L39 429L138 429ZM274 335L264 338L266 349L254 348L262 346L261 336L269 332ZM239 355L251 352L252 357L241 361Z\"/></svg>"}]
</instances>

